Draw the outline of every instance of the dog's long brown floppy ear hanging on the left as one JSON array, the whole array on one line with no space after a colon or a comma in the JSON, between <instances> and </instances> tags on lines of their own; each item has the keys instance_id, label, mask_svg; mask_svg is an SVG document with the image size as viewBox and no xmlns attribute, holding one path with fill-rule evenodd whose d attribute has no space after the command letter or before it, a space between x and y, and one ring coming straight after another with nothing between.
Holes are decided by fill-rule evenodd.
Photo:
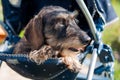
<instances>
[{"instance_id":1,"label":"dog's long brown floppy ear hanging on the left","mask_svg":"<svg viewBox=\"0 0 120 80\"><path fill-rule=\"evenodd\" d=\"M35 16L27 24L25 29L25 38L32 46L32 49L39 49L44 43L42 32L42 18Z\"/></svg>"}]
</instances>

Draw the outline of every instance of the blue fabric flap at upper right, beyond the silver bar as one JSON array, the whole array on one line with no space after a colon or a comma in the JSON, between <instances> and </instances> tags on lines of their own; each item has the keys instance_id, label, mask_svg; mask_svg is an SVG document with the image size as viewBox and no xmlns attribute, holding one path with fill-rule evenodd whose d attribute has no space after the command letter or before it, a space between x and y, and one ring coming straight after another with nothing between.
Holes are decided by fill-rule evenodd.
<instances>
[{"instance_id":1,"label":"blue fabric flap at upper right, beyond the silver bar","mask_svg":"<svg viewBox=\"0 0 120 80\"><path fill-rule=\"evenodd\" d=\"M111 4L111 0L86 0L86 4L88 6L88 9L92 15L94 11L94 1L97 6L98 11L102 14L102 16L105 18L106 23L109 23L110 21L117 18L117 15L113 9L113 6Z\"/></svg>"}]
</instances>

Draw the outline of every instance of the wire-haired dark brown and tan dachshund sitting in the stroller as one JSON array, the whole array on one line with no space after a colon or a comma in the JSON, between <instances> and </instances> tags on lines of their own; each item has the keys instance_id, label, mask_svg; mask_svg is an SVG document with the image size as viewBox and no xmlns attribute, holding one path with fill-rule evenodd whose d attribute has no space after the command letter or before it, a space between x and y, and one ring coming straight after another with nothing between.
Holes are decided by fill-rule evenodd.
<instances>
[{"instance_id":1,"label":"wire-haired dark brown and tan dachshund sitting in the stroller","mask_svg":"<svg viewBox=\"0 0 120 80\"><path fill-rule=\"evenodd\" d=\"M76 24L76 14L59 6L42 8L27 24L14 53L28 54L38 64L49 58L61 58L69 69L78 71L81 64L76 55L91 39Z\"/></svg>"}]
</instances>

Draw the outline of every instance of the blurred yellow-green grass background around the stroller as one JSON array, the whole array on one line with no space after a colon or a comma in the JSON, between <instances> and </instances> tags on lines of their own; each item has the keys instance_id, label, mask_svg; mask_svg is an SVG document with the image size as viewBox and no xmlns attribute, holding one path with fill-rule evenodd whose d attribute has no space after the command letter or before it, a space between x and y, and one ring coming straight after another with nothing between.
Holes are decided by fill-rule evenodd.
<instances>
[{"instance_id":1,"label":"blurred yellow-green grass background around the stroller","mask_svg":"<svg viewBox=\"0 0 120 80\"><path fill-rule=\"evenodd\" d=\"M120 17L120 0L111 0L112 5ZM0 0L0 20L3 20ZM120 80L120 20L105 27L103 31L103 42L109 44L115 55L115 80Z\"/></svg>"}]
</instances>

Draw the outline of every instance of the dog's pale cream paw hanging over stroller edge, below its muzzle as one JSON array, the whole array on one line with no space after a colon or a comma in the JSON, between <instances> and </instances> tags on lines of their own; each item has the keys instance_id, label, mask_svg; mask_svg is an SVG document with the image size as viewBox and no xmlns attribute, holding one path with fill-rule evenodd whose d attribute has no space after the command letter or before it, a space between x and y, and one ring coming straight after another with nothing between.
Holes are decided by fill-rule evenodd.
<instances>
[{"instance_id":1,"label":"dog's pale cream paw hanging over stroller edge, below its muzzle","mask_svg":"<svg viewBox=\"0 0 120 80\"><path fill-rule=\"evenodd\" d=\"M79 60L73 57L63 57L62 58L63 63L65 63L68 67L68 69L79 72L82 68L82 65L80 64Z\"/></svg>"}]
</instances>

